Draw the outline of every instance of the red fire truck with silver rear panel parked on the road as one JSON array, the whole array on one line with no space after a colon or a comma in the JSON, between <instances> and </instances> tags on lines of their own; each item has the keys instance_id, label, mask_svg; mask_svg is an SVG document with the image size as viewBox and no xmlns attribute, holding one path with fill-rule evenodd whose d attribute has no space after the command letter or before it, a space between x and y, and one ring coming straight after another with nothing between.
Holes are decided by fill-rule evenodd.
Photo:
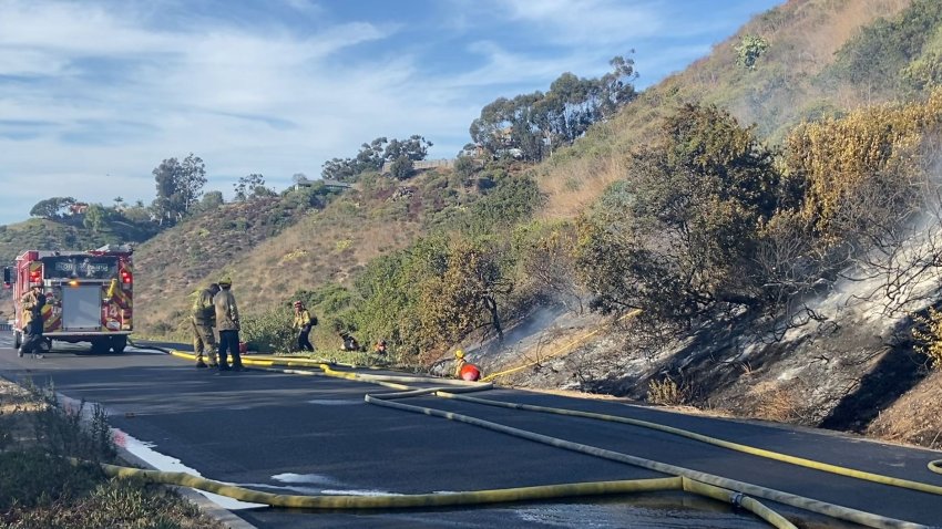
<instances>
[{"instance_id":1,"label":"red fire truck with silver rear panel parked on the road","mask_svg":"<svg viewBox=\"0 0 942 529\"><path fill-rule=\"evenodd\" d=\"M132 249L104 246L89 251L29 250L16 266L3 269L3 283L13 289L13 342L23 340L20 298L33 284L42 287L47 349L53 340L90 342L93 353L123 353L133 330Z\"/></svg>"}]
</instances>

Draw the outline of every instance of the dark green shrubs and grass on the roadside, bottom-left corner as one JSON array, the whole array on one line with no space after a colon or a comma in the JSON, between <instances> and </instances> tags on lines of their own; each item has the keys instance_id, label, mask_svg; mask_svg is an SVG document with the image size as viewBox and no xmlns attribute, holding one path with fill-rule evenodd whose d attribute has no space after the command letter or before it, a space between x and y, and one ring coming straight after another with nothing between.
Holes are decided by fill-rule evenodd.
<instances>
[{"instance_id":1,"label":"dark green shrubs and grass on the roadside, bottom-left corner","mask_svg":"<svg viewBox=\"0 0 942 529\"><path fill-rule=\"evenodd\" d=\"M223 528L173 490L137 479L109 479L96 464L70 463L69 457L113 460L106 414L94 406L83 416L85 403L60 406L51 385L28 382L27 390L22 406L18 400L12 413L0 415L4 432L31 424L34 436L20 445L11 438L0 452L0 527Z\"/></svg>"}]
</instances>

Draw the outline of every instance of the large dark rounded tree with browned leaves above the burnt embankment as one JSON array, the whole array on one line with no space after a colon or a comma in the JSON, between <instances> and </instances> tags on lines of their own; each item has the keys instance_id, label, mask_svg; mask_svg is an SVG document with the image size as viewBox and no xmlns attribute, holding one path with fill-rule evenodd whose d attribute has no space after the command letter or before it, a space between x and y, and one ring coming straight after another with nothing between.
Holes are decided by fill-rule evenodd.
<instances>
[{"instance_id":1,"label":"large dark rounded tree with browned leaves above the burnt embankment","mask_svg":"<svg viewBox=\"0 0 942 529\"><path fill-rule=\"evenodd\" d=\"M749 260L779 180L751 127L714 106L680 108L583 220L578 268L593 308L686 323L720 304L757 304Z\"/></svg>"}]
</instances>

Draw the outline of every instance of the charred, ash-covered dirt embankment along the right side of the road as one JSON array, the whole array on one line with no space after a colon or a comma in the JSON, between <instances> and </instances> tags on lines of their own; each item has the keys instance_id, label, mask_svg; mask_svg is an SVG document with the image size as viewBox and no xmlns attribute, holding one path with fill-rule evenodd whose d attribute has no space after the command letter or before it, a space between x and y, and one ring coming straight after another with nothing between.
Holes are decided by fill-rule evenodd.
<instances>
[{"instance_id":1,"label":"charred, ash-covered dirt embankment along the right side of the road","mask_svg":"<svg viewBox=\"0 0 942 529\"><path fill-rule=\"evenodd\" d=\"M815 301L823 319L779 340L741 317L653 352L638 346L631 325L547 311L542 325L510 333L503 348L474 352L485 374L506 372L495 381L518 387L692 405L942 448L942 373L914 349L911 320L887 315L879 300L848 303L852 295L832 286ZM676 392L665 396L652 382Z\"/></svg>"}]
</instances>

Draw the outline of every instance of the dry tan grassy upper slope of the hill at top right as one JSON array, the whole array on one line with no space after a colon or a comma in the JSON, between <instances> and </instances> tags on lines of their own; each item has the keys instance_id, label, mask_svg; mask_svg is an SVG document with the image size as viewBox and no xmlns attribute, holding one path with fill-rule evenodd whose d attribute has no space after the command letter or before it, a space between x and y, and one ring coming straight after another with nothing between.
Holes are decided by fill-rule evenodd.
<instances>
[{"instance_id":1,"label":"dry tan grassy upper slope of the hill at top right","mask_svg":"<svg viewBox=\"0 0 942 529\"><path fill-rule=\"evenodd\" d=\"M861 28L900 13L909 0L790 0L758 14L736 34L714 45L713 53L642 93L614 120L596 125L573 147L555 153L536 168L549 196L543 212L572 218L622 178L628 153L652 137L659 123L684 103L727 108L743 124L755 124L771 144L807 118L840 113L893 97L874 94L841 77L836 53ZM736 62L744 35L768 43L755 69ZM883 50L889 53L890 50ZM879 55L872 60L878 62Z\"/></svg>"}]
</instances>

